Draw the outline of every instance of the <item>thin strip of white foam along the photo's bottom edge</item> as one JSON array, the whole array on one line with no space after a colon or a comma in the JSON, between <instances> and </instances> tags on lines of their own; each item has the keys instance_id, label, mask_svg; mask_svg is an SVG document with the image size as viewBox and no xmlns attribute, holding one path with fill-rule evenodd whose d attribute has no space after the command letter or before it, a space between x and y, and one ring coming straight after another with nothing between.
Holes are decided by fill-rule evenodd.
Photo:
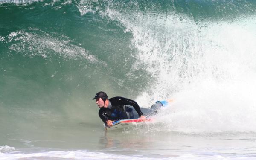
<instances>
[{"instance_id":1,"label":"thin strip of white foam along the photo's bottom edge","mask_svg":"<svg viewBox=\"0 0 256 160\"><path fill-rule=\"evenodd\" d=\"M143 157L143 156L126 156L119 154L107 154L102 152L88 151L48 151L36 153L0 153L0 160L22 160L22 159L40 159L40 160L253 160L255 157L224 157L221 155L192 155L184 154L182 156L165 156L161 158Z\"/></svg>"}]
</instances>

